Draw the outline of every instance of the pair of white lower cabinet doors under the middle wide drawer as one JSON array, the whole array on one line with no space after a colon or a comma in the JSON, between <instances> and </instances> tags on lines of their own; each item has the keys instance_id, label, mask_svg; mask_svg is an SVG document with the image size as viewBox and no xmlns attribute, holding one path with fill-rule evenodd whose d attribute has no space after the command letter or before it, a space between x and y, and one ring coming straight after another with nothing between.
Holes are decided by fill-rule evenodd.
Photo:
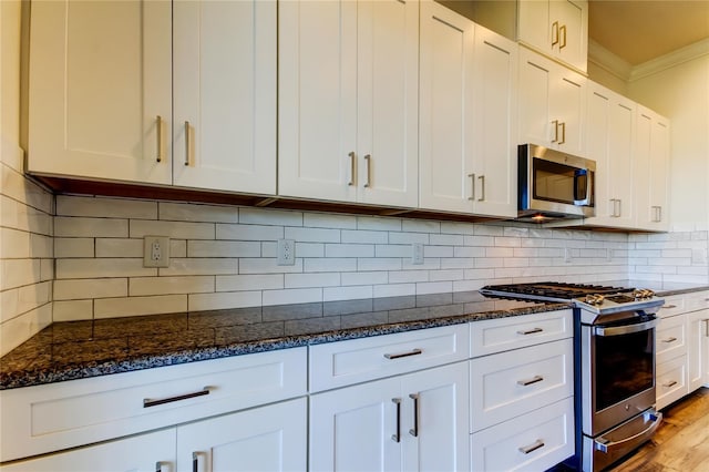
<instances>
[{"instance_id":1,"label":"pair of white lower cabinet doors under the middle wide drawer","mask_svg":"<svg viewBox=\"0 0 709 472\"><path fill-rule=\"evenodd\" d=\"M469 469L467 365L310 398L311 471Z\"/></svg>"}]
</instances>

